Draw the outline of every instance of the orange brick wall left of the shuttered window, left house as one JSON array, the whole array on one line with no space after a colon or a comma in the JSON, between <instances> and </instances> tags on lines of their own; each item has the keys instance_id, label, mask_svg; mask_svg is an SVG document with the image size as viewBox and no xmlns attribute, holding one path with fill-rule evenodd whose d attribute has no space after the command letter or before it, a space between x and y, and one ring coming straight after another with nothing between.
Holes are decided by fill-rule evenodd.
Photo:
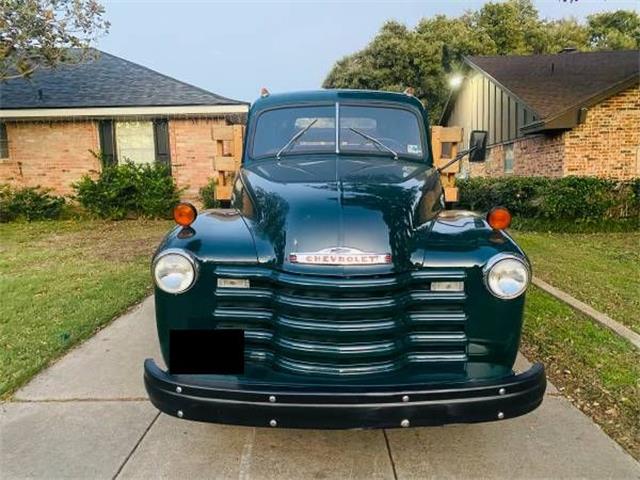
<instances>
[{"instance_id":1,"label":"orange brick wall left of the shuttered window, left house","mask_svg":"<svg viewBox=\"0 0 640 480\"><path fill-rule=\"evenodd\" d=\"M100 169L90 150L99 150L93 121L9 122L9 159L0 161L0 183L50 188L61 195L71 183Z\"/></svg>"}]
</instances>

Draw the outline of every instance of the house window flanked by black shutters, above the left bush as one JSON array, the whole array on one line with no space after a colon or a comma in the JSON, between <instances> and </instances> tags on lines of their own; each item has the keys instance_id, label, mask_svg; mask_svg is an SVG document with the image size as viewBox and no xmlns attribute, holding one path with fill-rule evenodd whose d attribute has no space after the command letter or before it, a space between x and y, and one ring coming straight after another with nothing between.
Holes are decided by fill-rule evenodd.
<instances>
[{"instance_id":1,"label":"house window flanked by black shutters, above the left bush","mask_svg":"<svg viewBox=\"0 0 640 480\"><path fill-rule=\"evenodd\" d=\"M169 128L166 120L99 123L100 151L106 165L123 162L160 162L169 165Z\"/></svg>"}]
</instances>

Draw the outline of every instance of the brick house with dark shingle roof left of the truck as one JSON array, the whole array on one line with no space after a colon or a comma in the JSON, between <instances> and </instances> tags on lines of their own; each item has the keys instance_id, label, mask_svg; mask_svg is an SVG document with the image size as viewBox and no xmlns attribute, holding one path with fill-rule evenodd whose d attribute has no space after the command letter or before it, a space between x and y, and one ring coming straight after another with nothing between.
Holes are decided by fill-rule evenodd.
<instances>
[{"instance_id":1,"label":"brick house with dark shingle roof left of the truck","mask_svg":"<svg viewBox=\"0 0 640 480\"><path fill-rule=\"evenodd\" d=\"M96 51L88 61L0 83L0 183L72 193L106 163L170 166L185 197L239 158L248 105ZM230 146L235 141L235 147Z\"/></svg>"}]
</instances>

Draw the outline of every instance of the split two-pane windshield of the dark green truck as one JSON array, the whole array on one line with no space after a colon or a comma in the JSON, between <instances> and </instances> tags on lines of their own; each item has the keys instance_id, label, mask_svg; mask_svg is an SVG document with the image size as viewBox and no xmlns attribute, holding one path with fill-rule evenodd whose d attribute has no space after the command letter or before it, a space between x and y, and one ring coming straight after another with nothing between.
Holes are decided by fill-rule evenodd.
<instances>
[{"instance_id":1,"label":"split two-pane windshield of the dark green truck","mask_svg":"<svg viewBox=\"0 0 640 480\"><path fill-rule=\"evenodd\" d=\"M418 117L393 107L340 105L288 107L258 117L252 157L336 152L397 157L423 157Z\"/></svg>"}]
</instances>

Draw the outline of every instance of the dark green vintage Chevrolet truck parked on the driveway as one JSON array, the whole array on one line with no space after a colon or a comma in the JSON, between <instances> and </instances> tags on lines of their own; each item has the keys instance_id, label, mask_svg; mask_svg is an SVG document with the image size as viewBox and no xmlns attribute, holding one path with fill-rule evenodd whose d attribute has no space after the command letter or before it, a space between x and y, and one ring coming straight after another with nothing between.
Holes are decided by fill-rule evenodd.
<instances>
[{"instance_id":1,"label":"dark green vintage Chevrolet truck parked on the driveway","mask_svg":"<svg viewBox=\"0 0 640 480\"><path fill-rule=\"evenodd\" d=\"M168 366L151 402L180 418L389 428L513 418L527 257L510 214L445 208L427 112L410 94L265 94L231 208L176 207L152 262ZM483 161L486 132L471 132Z\"/></svg>"}]
</instances>

